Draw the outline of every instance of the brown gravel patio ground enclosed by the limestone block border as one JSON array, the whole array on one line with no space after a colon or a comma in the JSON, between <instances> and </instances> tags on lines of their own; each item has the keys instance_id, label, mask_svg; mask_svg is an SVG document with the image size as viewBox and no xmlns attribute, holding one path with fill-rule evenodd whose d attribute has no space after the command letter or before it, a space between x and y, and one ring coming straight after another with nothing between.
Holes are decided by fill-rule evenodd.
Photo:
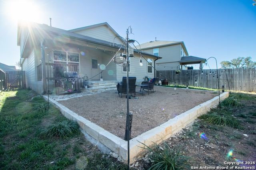
<instances>
[{"instance_id":1,"label":"brown gravel patio ground enclosed by the limestone block border","mask_svg":"<svg viewBox=\"0 0 256 170\"><path fill-rule=\"evenodd\" d=\"M133 114L132 138L218 96L217 92L181 88L155 86L154 90L156 92L149 95L136 94L139 99L129 100L129 111ZM120 98L116 92L111 90L58 102L124 139L127 99L126 94Z\"/></svg>"}]
</instances>

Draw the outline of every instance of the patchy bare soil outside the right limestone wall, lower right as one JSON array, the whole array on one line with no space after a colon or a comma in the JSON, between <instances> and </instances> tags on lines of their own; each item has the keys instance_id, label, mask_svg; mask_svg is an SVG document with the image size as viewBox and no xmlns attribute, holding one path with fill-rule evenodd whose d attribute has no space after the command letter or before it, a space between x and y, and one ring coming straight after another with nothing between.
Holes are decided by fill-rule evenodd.
<instances>
[{"instance_id":1,"label":"patchy bare soil outside the right limestone wall, lower right","mask_svg":"<svg viewBox=\"0 0 256 170\"><path fill-rule=\"evenodd\" d=\"M249 93L249 96L254 99L242 101L242 107L222 108L232 111L233 116L242 125L242 130L211 125L201 119L196 119L189 127L176 133L165 142L171 149L180 147L186 156L193 156L192 166L198 167L198 169L205 166L214 169L227 166L228 169L232 169L232 166L237 166L237 169L241 169L242 166L245 166L244 169L254 169L256 166L256 116L251 113L256 113L256 93ZM244 116L241 117L241 115ZM200 138L200 133L205 133L208 141ZM163 146L164 143L160 145ZM227 156L231 150L233 158ZM237 162L235 158L243 161L244 164L240 166L225 164L225 162ZM144 157L137 162L131 164L130 167L133 167L134 170L146 170L153 165L153 162L144 161Z\"/></svg>"}]
</instances>

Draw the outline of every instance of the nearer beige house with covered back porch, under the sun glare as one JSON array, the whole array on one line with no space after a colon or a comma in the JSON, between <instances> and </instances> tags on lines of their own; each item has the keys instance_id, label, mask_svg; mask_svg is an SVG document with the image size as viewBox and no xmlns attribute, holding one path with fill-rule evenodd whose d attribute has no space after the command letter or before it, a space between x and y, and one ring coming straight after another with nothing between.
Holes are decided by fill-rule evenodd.
<instances>
[{"instance_id":1,"label":"nearer beige house with covered back porch, under the sun glare","mask_svg":"<svg viewBox=\"0 0 256 170\"><path fill-rule=\"evenodd\" d=\"M54 64L61 64L66 72L76 72L79 76L88 76L89 79L94 77L121 47L115 45L123 43L118 36L106 22L68 31L46 24L18 22L17 45L20 46L22 70L26 71L26 86L38 93L45 93L48 64L50 78L53 77ZM161 58L148 53L142 55L152 63ZM100 76L90 80L98 81ZM126 76L126 68L111 61L102 76L104 81L122 81L122 77ZM140 55L136 50L134 57L130 57L129 76L136 76L136 84L142 82L145 76L154 76L152 66L140 66ZM49 82L53 88L54 81Z\"/></svg>"}]
</instances>

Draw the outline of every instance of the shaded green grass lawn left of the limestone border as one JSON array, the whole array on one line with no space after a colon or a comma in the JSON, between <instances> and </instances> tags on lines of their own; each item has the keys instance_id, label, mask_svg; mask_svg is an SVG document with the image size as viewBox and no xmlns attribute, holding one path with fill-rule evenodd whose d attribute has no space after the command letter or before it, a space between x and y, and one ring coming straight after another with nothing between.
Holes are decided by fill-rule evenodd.
<instances>
[{"instance_id":1,"label":"shaded green grass lawn left of the limestone border","mask_svg":"<svg viewBox=\"0 0 256 170\"><path fill-rule=\"evenodd\" d=\"M0 96L1 170L126 169L102 154L58 109L32 90Z\"/></svg>"}]
</instances>

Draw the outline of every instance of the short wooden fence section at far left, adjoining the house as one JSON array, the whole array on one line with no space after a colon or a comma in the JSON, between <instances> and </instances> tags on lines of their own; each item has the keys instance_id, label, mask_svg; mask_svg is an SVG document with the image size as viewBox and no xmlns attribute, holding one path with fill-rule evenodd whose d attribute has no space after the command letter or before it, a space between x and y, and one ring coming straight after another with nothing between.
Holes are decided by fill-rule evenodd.
<instances>
[{"instance_id":1,"label":"short wooden fence section at far left, adjoining the house","mask_svg":"<svg viewBox=\"0 0 256 170\"><path fill-rule=\"evenodd\" d=\"M25 71L6 71L4 89L26 88Z\"/></svg>"}]
</instances>

